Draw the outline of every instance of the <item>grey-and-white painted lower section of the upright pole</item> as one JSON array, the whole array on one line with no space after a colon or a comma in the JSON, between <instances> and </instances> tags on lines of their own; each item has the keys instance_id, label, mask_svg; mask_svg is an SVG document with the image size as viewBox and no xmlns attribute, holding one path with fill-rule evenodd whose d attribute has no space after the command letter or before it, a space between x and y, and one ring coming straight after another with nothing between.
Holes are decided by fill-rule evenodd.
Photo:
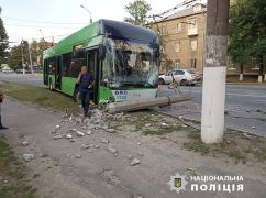
<instances>
[{"instance_id":1,"label":"grey-and-white painted lower section of the upright pole","mask_svg":"<svg viewBox=\"0 0 266 198\"><path fill-rule=\"evenodd\" d=\"M226 82L228 36L206 36L201 110L201 140L218 143L223 140Z\"/></svg>"}]
</instances>

